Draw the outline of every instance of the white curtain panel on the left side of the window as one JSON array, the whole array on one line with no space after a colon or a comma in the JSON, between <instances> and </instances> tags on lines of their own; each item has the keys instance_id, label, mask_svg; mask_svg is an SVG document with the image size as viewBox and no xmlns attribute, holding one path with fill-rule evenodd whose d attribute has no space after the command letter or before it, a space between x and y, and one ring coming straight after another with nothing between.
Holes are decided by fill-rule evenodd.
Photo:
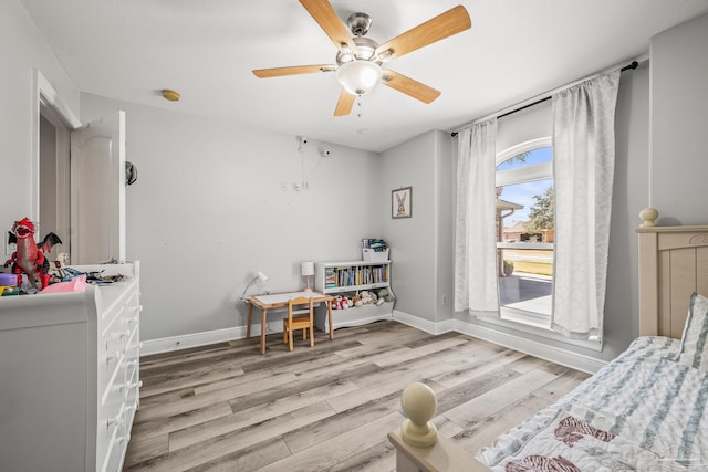
<instances>
[{"instance_id":1,"label":"white curtain panel on the left side of the window","mask_svg":"<svg viewBox=\"0 0 708 472\"><path fill-rule=\"evenodd\" d=\"M497 119L458 133L455 311L499 316L496 244Z\"/></svg>"}]
</instances>

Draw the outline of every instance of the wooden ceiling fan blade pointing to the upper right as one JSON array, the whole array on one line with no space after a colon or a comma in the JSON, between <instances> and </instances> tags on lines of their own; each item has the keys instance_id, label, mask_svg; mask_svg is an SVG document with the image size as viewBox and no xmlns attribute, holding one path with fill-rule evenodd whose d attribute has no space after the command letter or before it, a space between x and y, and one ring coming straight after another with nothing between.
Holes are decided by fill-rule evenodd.
<instances>
[{"instance_id":1,"label":"wooden ceiling fan blade pointing to the upper right","mask_svg":"<svg viewBox=\"0 0 708 472\"><path fill-rule=\"evenodd\" d=\"M384 61L391 61L471 27L472 22L467 10L459 4L379 45L375 54L382 54ZM387 51L391 51L391 55L386 55Z\"/></svg>"}]
</instances>

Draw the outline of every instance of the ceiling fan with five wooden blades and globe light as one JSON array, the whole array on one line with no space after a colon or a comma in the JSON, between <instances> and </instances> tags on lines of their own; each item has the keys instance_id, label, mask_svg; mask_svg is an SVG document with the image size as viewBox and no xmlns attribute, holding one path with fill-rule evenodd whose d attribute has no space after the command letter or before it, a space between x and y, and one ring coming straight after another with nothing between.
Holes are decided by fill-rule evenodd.
<instances>
[{"instance_id":1,"label":"ceiling fan with five wooden blades and globe light","mask_svg":"<svg viewBox=\"0 0 708 472\"><path fill-rule=\"evenodd\" d=\"M378 82L420 102L433 102L440 95L439 91L389 69L382 69L382 65L472 25L465 7L457 6L379 45L376 41L364 38L372 23L366 13L350 15L347 25L352 36L327 0L300 0L300 3L339 50L336 64L259 69L253 71L253 74L257 77L267 78L335 72L337 82L342 85L342 92L334 116L348 115L356 96L368 93Z\"/></svg>"}]
</instances>

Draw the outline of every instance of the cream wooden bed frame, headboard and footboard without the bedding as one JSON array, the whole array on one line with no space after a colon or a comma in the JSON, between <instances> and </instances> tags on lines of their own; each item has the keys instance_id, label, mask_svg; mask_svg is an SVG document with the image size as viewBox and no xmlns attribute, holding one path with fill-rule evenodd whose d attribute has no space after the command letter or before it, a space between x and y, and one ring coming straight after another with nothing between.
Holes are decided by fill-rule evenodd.
<instances>
[{"instance_id":1,"label":"cream wooden bed frame, headboard and footboard without the bedding","mask_svg":"<svg viewBox=\"0 0 708 472\"><path fill-rule=\"evenodd\" d=\"M655 210L652 213L637 230L639 335L680 339L690 294L708 295L708 225L656 227ZM438 436L429 448L410 445L405 430L391 432L388 439L397 450L398 472L490 470L447 438Z\"/></svg>"}]
</instances>

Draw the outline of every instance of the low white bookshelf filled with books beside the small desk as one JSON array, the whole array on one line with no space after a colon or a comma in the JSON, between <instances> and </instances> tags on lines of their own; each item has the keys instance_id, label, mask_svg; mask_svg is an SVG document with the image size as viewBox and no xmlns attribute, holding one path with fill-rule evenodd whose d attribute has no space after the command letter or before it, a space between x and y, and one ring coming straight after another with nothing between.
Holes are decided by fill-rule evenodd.
<instances>
[{"instance_id":1,"label":"low white bookshelf filled with books beside the small desk","mask_svg":"<svg viewBox=\"0 0 708 472\"><path fill-rule=\"evenodd\" d=\"M381 289L391 291L391 261L317 262L314 266L314 287L317 292L334 296L353 296L362 291L378 294ZM336 329L392 319L393 311L394 302L332 310L332 324ZM325 332L330 329L326 307L316 310L315 325Z\"/></svg>"}]
</instances>

